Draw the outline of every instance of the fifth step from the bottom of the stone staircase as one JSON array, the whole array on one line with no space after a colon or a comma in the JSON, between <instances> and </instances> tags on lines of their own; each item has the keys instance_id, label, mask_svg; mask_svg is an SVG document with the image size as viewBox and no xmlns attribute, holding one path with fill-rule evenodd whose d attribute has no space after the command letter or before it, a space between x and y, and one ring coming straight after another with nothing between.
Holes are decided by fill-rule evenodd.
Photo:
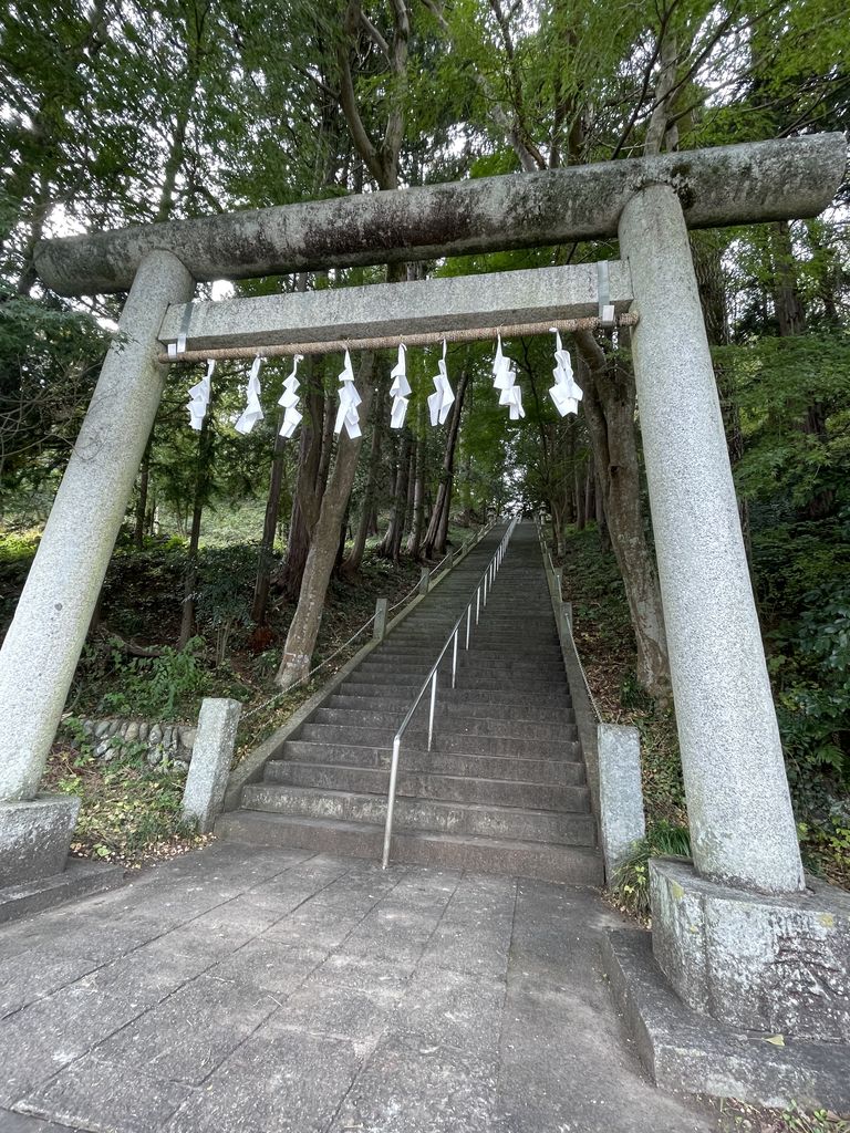
<instances>
[{"instance_id":1,"label":"fifth step from the bottom of the stone staircase","mask_svg":"<svg viewBox=\"0 0 850 1133\"><path fill-rule=\"evenodd\" d=\"M424 713L423 713L424 715ZM405 739L411 748L427 747L427 718L415 718ZM512 735L477 735L474 732L454 732L453 719L437 719L434 724L432 750L452 751L459 755L482 756L529 756L532 758L558 759L563 757L569 746L577 742L575 724L564 724L558 730L556 739L527 740ZM356 727L338 724L304 724L298 732L299 740L313 743L346 744L349 747L389 747L396 734L396 726Z\"/></svg>"}]
</instances>

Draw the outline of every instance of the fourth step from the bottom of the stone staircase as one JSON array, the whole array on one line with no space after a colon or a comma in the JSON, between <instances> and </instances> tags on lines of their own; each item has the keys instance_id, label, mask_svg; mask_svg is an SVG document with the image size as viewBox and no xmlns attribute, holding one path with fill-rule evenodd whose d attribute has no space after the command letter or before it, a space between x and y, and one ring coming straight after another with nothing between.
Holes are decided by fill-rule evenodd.
<instances>
[{"instance_id":1,"label":"fourth step from the bottom of the stone staircase","mask_svg":"<svg viewBox=\"0 0 850 1133\"><path fill-rule=\"evenodd\" d=\"M389 767L390 747L354 748L350 744L312 743L309 740L287 740L274 758L296 763L339 764L349 767ZM403 747L402 766L411 772L434 775L471 775L481 778L521 780L532 783L560 783L580 786L585 782L585 765L578 743L567 744L563 759L539 759L525 756L475 756L451 751L425 751ZM267 765L266 765L267 766Z\"/></svg>"}]
</instances>

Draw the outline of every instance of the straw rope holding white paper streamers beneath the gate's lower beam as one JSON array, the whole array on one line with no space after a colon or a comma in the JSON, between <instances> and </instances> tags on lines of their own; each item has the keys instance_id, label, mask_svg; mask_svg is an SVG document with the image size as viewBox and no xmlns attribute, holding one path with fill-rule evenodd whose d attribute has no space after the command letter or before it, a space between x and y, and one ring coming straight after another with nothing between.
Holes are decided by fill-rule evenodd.
<instances>
[{"instance_id":1,"label":"straw rope holding white paper streamers beneath the gate's lower beam","mask_svg":"<svg viewBox=\"0 0 850 1133\"><path fill-rule=\"evenodd\" d=\"M635 326L638 316L635 312L618 315L617 326ZM400 343L406 347L427 347L442 342L475 342L479 339L494 339L501 334L504 339L521 338L530 334L547 334L550 330L558 331L595 331L603 323L595 315L587 318L552 318L545 323L512 323L508 326L466 326L454 331L427 331L420 334L389 334L383 338L368 339L328 339L324 342L282 342L277 346L226 347L220 350L184 350L179 355L161 353L158 361L207 361L214 359L224 361L238 358L290 358L292 355L334 353L343 350L391 350Z\"/></svg>"}]
</instances>

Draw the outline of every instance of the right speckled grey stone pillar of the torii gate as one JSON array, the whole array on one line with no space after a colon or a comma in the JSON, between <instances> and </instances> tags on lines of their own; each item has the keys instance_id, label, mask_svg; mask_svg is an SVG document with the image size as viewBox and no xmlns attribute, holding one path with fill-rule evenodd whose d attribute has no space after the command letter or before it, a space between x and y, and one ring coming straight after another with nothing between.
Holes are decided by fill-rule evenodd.
<instances>
[{"instance_id":1,"label":"right speckled grey stone pillar of the torii gate","mask_svg":"<svg viewBox=\"0 0 850 1133\"><path fill-rule=\"evenodd\" d=\"M730 187L731 188L731 187ZM688 232L654 185L620 220L632 360L694 861L722 884L804 885Z\"/></svg>"}]
</instances>

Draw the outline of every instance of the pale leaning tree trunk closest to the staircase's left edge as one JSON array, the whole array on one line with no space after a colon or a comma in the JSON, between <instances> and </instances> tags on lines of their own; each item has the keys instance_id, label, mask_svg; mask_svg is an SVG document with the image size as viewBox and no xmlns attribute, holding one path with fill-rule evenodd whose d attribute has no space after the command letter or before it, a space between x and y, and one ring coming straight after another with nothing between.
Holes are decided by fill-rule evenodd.
<instances>
[{"instance_id":1,"label":"pale leaning tree trunk closest to the staircase's left edge","mask_svg":"<svg viewBox=\"0 0 850 1133\"><path fill-rule=\"evenodd\" d=\"M372 402L372 369L374 355L364 353L357 378L357 390L363 398L360 415L368 414ZM322 611L339 547L339 533L351 495L362 437L356 441L340 436L337 460L328 488L322 496L318 520L313 533L307 562L298 595L298 606L289 627L283 659L275 678L281 689L304 684L322 624Z\"/></svg>"}]
</instances>

